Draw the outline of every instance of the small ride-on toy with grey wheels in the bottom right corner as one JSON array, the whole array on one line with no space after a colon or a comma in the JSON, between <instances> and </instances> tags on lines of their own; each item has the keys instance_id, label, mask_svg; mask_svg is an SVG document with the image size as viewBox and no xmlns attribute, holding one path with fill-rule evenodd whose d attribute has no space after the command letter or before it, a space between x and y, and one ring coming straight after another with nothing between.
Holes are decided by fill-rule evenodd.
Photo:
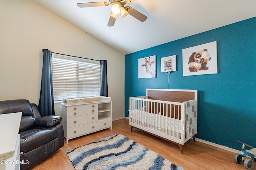
<instances>
[{"instance_id":1,"label":"small ride-on toy with grey wheels in the bottom right corner","mask_svg":"<svg viewBox=\"0 0 256 170\"><path fill-rule=\"evenodd\" d=\"M254 160L254 162L256 162L256 148L253 148L252 146L250 145L247 145L245 143L242 143L240 141L237 141L238 143L241 143L243 146L241 148L241 154L235 154L234 156L234 160L237 164L240 164L241 162L244 162L244 167L247 168L247 169L250 169L252 168L252 160ZM245 149L244 147L249 147L250 149ZM249 158L245 158L245 156L248 155L252 158L249 159Z\"/></svg>"}]
</instances>

